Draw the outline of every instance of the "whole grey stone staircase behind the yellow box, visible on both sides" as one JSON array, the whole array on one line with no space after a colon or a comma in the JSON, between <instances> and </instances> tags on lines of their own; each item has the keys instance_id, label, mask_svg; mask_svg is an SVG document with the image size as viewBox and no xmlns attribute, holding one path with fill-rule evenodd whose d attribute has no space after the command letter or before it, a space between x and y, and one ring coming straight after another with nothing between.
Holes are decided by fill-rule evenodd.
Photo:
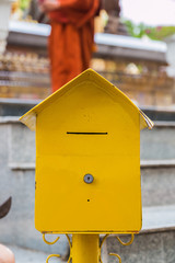
<instances>
[{"instance_id":1,"label":"whole grey stone staircase behind the yellow box, visible on both sides","mask_svg":"<svg viewBox=\"0 0 175 263\"><path fill-rule=\"evenodd\" d=\"M129 247L108 237L103 247L104 263L117 261L109 252L117 252L126 263L175 262L174 121L172 112L170 122L158 121L152 130L141 132L143 228ZM0 146L0 201L13 197L10 214L0 220L0 242L14 251L16 263L42 263L50 253L65 255L68 244L63 236L49 247L34 227L35 133L19 123L19 117L1 116Z\"/></svg>"}]
</instances>

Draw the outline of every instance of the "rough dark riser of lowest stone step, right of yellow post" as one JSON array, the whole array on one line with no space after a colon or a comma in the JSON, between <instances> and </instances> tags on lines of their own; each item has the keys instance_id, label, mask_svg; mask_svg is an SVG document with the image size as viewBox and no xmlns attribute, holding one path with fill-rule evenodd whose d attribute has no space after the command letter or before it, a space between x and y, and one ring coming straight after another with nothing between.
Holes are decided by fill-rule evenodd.
<instances>
[{"instance_id":1,"label":"rough dark riser of lowest stone step, right of yellow post","mask_svg":"<svg viewBox=\"0 0 175 263\"><path fill-rule=\"evenodd\" d=\"M174 263L174 248L175 230L138 235L128 247L118 244L117 239L112 236L104 243L103 262L118 262L118 259L109 255L113 252L120 255L122 263Z\"/></svg>"}]
</instances>

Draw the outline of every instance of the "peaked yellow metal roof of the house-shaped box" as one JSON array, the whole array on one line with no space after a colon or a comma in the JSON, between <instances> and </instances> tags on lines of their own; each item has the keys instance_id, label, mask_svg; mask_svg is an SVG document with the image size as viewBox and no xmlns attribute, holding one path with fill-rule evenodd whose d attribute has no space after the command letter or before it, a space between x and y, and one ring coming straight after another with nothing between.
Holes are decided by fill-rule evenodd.
<instances>
[{"instance_id":1,"label":"peaked yellow metal roof of the house-shaped box","mask_svg":"<svg viewBox=\"0 0 175 263\"><path fill-rule=\"evenodd\" d=\"M128 96L126 96L119 89L117 89L114 84L112 84L109 81L107 81L105 78L96 73L92 69L88 69L81 75L79 75L77 78L65 84L62 88L57 90L55 93L49 95L47 99L45 99L43 102L40 102L38 105L33 107L31 111L28 111L26 114L24 114L20 121L24 123L30 129L35 130L36 128L36 116L42 112L44 108L46 108L50 103L54 103L59 96L62 96L66 92L68 92L72 87L79 85L79 83L82 83L84 81L93 82L97 85L101 85L101 88L104 89L110 89L113 92L113 95L117 95L120 93L120 95L124 96L124 99L129 102L133 108L140 114L140 129L149 128L151 129L153 127L153 122L138 107L133 104L132 101L129 100Z\"/></svg>"}]
</instances>

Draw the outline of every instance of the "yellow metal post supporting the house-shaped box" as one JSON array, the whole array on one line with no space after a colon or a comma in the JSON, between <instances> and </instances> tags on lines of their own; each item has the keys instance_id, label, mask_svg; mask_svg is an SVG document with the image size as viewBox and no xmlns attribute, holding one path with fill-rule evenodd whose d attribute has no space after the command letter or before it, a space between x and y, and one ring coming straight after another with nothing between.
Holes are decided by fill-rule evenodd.
<instances>
[{"instance_id":1,"label":"yellow metal post supporting the house-shaped box","mask_svg":"<svg viewBox=\"0 0 175 263\"><path fill-rule=\"evenodd\" d=\"M100 236L90 233L72 235L72 263L100 262Z\"/></svg>"}]
</instances>

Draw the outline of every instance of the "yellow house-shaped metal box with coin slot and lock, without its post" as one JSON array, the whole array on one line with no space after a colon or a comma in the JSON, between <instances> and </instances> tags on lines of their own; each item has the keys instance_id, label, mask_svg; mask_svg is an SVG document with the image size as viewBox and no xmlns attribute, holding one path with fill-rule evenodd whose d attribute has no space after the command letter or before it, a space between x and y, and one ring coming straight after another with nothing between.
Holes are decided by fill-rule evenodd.
<instances>
[{"instance_id":1,"label":"yellow house-shaped metal box with coin slot and lock, without its post","mask_svg":"<svg viewBox=\"0 0 175 263\"><path fill-rule=\"evenodd\" d=\"M140 129L153 123L92 69L21 117L36 130L42 232L141 229Z\"/></svg>"}]
</instances>

